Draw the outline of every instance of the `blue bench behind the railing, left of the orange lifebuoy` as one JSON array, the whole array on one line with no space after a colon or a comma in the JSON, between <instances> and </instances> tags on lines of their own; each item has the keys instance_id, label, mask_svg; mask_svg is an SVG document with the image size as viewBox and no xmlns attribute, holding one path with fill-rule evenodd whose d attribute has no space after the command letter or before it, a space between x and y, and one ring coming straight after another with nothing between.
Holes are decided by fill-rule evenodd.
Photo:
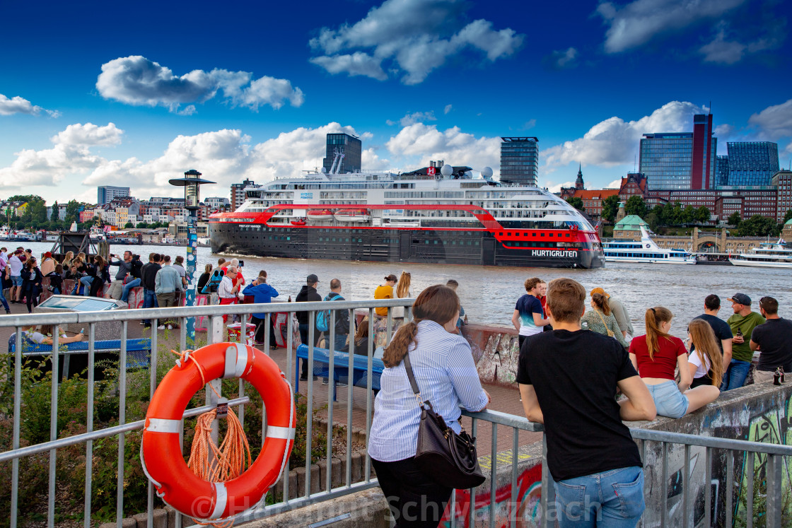
<instances>
[{"instance_id":1,"label":"blue bench behind the railing, left of the orange lifebuoy","mask_svg":"<svg viewBox=\"0 0 792 528\"><path fill-rule=\"evenodd\" d=\"M17 349L17 336L12 334L8 340L8 351L13 354ZM113 354L120 353L121 340L100 340L93 342L94 359L114 359ZM51 355L51 344L32 344L30 341L23 340L22 355ZM88 359L88 341L74 341L60 345L59 355L63 357L63 363L60 363L60 369L63 372L63 378L69 376L69 363L70 356L75 354L86 355L86 367ZM127 340L127 368L145 368L149 366L149 359L151 356L151 340L147 337L139 339ZM116 356L117 357L117 356ZM81 358L82 359L82 358ZM76 369L75 369L76 370ZM80 369L82 370L82 369Z\"/></svg>"}]
</instances>

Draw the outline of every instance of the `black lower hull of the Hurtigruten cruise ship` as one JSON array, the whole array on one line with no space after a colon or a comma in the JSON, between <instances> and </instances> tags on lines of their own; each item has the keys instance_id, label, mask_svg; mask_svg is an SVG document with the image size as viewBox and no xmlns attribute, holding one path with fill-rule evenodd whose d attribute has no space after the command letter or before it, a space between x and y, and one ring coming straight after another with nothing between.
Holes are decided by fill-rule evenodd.
<instances>
[{"instance_id":1,"label":"black lower hull of the Hurtigruten cruise ship","mask_svg":"<svg viewBox=\"0 0 792 528\"><path fill-rule=\"evenodd\" d=\"M522 268L602 268L594 249L550 243L508 248L488 231L306 229L210 222L211 250L281 258L468 264Z\"/></svg>"}]
</instances>

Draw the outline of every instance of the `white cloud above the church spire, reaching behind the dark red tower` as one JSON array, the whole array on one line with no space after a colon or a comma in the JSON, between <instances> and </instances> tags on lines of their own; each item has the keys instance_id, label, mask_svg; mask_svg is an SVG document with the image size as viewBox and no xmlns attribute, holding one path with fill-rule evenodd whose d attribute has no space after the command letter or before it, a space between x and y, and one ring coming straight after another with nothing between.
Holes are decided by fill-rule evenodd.
<instances>
[{"instance_id":1,"label":"white cloud above the church spire, reaching behind the dark red tower","mask_svg":"<svg viewBox=\"0 0 792 528\"><path fill-rule=\"evenodd\" d=\"M625 121L613 116L596 123L582 138L551 146L539 155L550 170L572 161L604 167L630 163L643 134L691 131L693 116L704 112L695 104L671 101L639 120Z\"/></svg>"}]
</instances>

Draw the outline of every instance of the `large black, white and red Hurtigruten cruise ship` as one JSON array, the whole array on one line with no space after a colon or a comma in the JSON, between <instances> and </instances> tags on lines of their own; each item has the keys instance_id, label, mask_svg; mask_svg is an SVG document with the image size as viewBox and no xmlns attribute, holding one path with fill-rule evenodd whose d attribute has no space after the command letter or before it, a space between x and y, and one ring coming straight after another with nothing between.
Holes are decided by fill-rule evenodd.
<instances>
[{"instance_id":1,"label":"large black, white and red Hurtigruten cruise ship","mask_svg":"<svg viewBox=\"0 0 792 528\"><path fill-rule=\"evenodd\" d=\"M339 164L340 165L340 164ZM329 171L245 188L237 211L209 217L215 253L601 268L596 230L551 192L501 184L492 169L442 161L413 173Z\"/></svg>"}]
</instances>

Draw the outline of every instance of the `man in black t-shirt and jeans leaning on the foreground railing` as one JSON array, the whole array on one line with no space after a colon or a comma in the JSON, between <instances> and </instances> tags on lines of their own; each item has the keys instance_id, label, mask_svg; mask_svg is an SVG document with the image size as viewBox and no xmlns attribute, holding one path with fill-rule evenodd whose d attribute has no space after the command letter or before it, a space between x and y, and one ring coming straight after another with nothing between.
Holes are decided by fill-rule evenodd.
<instances>
[{"instance_id":1,"label":"man in black t-shirt and jeans leaning on the foreground railing","mask_svg":"<svg viewBox=\"0 0 792 528\"><path fill-rule=\"evenodd\" d=\"M550 282L553 331L528 336L520 349L523 408L545 426L560 526L638 522L645 508L641 457L622 420L654 420L656 409L626 350L581 330L585 298L573 279ZM615 401L617 388L626 399Z\"/></svg>"}]
</instances>

